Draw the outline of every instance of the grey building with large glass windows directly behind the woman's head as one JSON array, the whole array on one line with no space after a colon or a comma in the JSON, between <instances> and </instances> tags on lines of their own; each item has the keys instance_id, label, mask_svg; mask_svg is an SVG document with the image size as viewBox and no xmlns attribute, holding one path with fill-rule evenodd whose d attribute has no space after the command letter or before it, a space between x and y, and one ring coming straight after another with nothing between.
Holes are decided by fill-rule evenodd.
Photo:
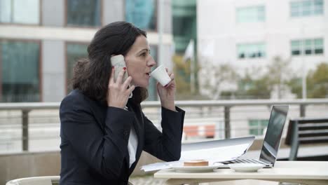
<instances>
[{"instance_id":1,"label":"grey building with large glass windows directly behind the woman's head","mask_svg":"<svg viewBox=\"0 0 328 185\"><path fill-rule=\"evenodd\" d=\"M163 11L170 12L170 1ZM147 32L158 61L155 0L0 0L0 102L57 102L71 91L70 79L95 32L125 20ZM171 56L171 15L164 15L163 55ZM20 30L20 32L18 32ZM170 67L170 60L162 62ZM172 68L172 67L170 67ZM148 100L157 100L151 79Z\"/></svg>"}]
</instances>

